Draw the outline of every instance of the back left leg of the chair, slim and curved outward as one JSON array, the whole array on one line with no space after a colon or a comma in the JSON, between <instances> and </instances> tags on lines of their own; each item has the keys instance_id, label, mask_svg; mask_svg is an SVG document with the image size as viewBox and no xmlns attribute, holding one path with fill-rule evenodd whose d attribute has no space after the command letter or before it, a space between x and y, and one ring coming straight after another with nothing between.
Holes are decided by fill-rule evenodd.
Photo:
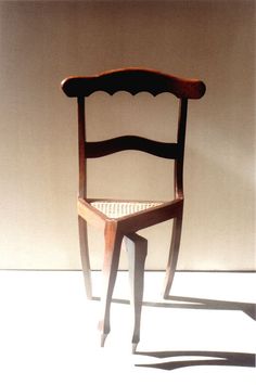
<instances>
[{"instance_id":1,"label":"back left leg of the chair, slim and curved outward","mask_svg":"<svg viewBox=\"0 0 256 385\"><path fill-rule=\"evenodd\" d=\"M78 228L79 228L79 242L80 242L80 256L81 266L84 272L84 279L86 284L87 298L92 298L92 287L91 287L91 269L88 249L88 235L87 235L87 222L78 216Z\"/></svg>"}]
</instances>

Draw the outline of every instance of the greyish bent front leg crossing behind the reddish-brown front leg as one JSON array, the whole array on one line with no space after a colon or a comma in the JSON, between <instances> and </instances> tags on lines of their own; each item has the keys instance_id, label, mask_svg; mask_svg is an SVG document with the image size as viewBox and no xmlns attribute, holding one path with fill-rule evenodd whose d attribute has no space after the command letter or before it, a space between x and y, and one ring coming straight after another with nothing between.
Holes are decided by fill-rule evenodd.
<instances>
[{"instance_id":1,"label":"greyish bent front leg crossing behind the reddish-brown front leg","mask_svg":"<svg viewBox=\"0 0 256 385\"><path fill-rule=\"evenodd\" d=\"M125 236L129 258L129 279L131 290L131 308L133 312L132 352L136 352L140 342L140 321L143 298L144 265L148 253L148 241L133 233Z\"/></svg>"}]
</instances>

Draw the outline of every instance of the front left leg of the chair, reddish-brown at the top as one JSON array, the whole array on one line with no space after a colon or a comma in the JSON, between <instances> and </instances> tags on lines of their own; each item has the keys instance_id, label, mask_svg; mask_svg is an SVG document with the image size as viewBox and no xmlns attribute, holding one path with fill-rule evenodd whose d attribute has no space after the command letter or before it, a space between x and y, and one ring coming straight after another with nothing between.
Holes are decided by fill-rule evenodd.
<instances>
[{"instance_id":1,"label":"front left leg of the chair, reddish-brown at the top","mask_svg":"<svg viewBox=\"0 0 256 385\"><path fill-rule=\"evenodd\" d=\"M105 228L105 255L103 261L103 285L102 285L102 318L99 322L101 332L101 346L104 346L105 338L111 331L110 310L111 300L115 286L116 274L119 264L119 254L123 235L116 231L116 223L108 222Z\"/></svg>"}]
</instances>

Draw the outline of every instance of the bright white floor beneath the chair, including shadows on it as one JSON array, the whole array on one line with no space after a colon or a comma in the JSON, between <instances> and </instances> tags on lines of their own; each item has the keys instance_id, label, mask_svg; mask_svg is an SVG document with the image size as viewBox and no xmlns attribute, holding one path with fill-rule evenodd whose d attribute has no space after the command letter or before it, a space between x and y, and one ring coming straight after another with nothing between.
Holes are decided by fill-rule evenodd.
<instances>
[{"instance_id":1,"label":"bright white floor beneath the chair, including shadows on it","mask_svg":"<svg viewBox=\"0 0 256 385\"><path fill-rule=\"evenodd\" d=\"M163 300L164 273L146 272L132 356L126 272L100 348L100 301L86 299L81 272L0 271L0 384L255 385L255 275L178 272ZM98 272L93 286L98 297Z\"/></svg>"}]
</instances>

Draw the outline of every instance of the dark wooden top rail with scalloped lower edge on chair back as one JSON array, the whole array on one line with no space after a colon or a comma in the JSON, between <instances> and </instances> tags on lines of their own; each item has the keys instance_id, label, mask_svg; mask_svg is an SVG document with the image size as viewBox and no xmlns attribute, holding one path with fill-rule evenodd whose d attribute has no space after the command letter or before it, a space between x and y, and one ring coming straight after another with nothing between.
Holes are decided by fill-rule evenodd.
<instances>
[{"instance_id":1,"label":"dark wooden top rail with scalloped lower edge on chair back","mask_svg":"<svg viewBox=\"0 0 256 385\"><path fill-rule=\"evenodd\" d=\"M95 91L105 91L111 95L117 91L127 91L135 95L146 91L152 95L170 92L177 98L200 99L206 87L197 79L184 79L149 68L120 68L94 76L72 76L62 81L62 89L69 98L89 97Z\"/></svg>"}]
</instances>

